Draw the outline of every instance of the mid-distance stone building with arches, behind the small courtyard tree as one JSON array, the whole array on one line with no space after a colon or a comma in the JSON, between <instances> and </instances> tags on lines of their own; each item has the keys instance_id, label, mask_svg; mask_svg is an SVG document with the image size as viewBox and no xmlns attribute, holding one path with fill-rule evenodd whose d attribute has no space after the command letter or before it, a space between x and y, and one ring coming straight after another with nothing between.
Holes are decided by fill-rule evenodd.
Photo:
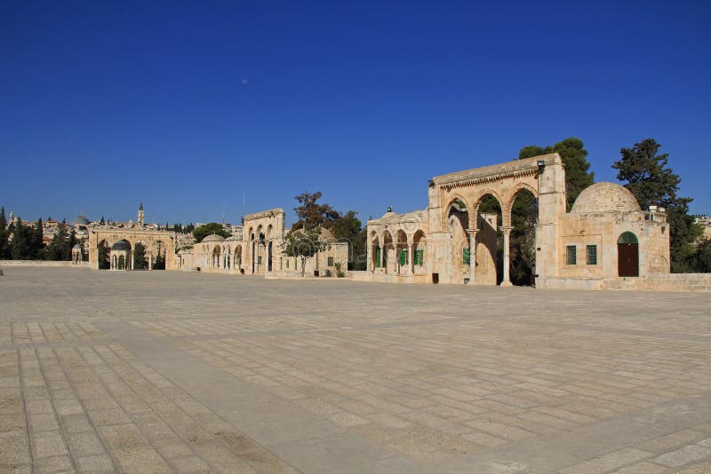
<instances>
[{"instance_id":1,"label":"mid-distance stone building with arches, behind the small courtyard tree","mask_svg":"<svg viewBox=\"0 0 711 474\"><path fill-rule=\"evenodd\" d=\"M282 254L285 235L284 209L256 212L244 217L242 227L227 239L208 235L192 249L182 249L176 256L176 267L201 272L241 273L247 275L288 276L300 274L294 257ZM298 232L298 231L297 231ZM330 248L308 258L306 274L334 274L336 264L348 266L348 243L337 242L329 231L322 239Z\"/></svg>"}]
</instances>

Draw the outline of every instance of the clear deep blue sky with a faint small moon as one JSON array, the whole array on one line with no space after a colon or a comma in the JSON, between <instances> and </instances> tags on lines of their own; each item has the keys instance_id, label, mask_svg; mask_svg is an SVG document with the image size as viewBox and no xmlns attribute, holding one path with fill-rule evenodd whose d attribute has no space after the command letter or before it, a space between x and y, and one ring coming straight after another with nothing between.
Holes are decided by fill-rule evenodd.
<instances>
[{"instance_id":1,"label":"clear deep blue sky with a faint small moon","mask_svg":"<svg viewBox=\"0 0 711 474\"><path fill-rule=\"evenodd\" d=\"M320 190L364 219L427 179L655 138L711 213L708 2L0 3L0 205L229 221Z\"/></svg>"}]
</instances>

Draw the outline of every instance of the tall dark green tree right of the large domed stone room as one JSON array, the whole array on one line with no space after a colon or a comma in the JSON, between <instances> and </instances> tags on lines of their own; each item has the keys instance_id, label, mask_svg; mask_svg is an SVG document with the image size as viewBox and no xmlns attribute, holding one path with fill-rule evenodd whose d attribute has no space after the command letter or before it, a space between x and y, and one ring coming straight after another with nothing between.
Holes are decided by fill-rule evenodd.
<instances>
[{"instance_id":1,"label":"tall dark green tree right of the large domed stone room","mask_svg":"<svg viewBox=\"0 0 711 474\"><path fill-rule=\"evenodd\" d=\"M617 178L635 194L642 209L650 205L667 209L672 272L694 272L695 242L702 229L689 215L693 200L677 195L682 178L668 167L669 154L658 154L660 147L653 138L646 138L631 148L622 148L622 158L612 168L618 170Z\"/></svg>"}]
</instances>

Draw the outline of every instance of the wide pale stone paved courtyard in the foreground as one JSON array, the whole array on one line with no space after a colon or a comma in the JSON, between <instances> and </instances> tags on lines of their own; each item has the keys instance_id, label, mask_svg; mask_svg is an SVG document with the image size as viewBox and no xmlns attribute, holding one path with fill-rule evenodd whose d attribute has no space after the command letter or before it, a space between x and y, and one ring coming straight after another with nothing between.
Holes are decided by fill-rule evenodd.
<instances>
[{"instance_id":1,"label":"wide pale stone paved courtyard in the foreground","mask_svg":"<svg viewBox=\"0 0 711 474\"><path fill-rule=\"evenodd\" d=\"M709 472L711 295L5 267L0 472Z\"/></svg>"}]
</instances>

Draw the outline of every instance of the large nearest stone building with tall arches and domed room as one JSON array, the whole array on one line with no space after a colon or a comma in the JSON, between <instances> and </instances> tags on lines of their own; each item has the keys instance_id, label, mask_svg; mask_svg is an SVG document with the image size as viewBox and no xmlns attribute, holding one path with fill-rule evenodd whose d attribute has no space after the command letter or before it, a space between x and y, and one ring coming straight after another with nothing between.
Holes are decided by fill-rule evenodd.
<instances>
[{"instance_id":1,"label":"large nearest stone building with tall arches and domed room","mask_svg":"<svg viewBox=\"0 0 711 474\"><path fill-rule=\"evenodd\" d=\"M431 179L427 209L368 221L369 266L356 279L511 285L511 211L520 193L538 205L537 287L605 288L611 280L669 273L664 209L643 211L625 187L598 183L567 212L563 162L546 154ZM498 202L501 222L479 211L487 197Z\"/></svg>"}]
</instances>

